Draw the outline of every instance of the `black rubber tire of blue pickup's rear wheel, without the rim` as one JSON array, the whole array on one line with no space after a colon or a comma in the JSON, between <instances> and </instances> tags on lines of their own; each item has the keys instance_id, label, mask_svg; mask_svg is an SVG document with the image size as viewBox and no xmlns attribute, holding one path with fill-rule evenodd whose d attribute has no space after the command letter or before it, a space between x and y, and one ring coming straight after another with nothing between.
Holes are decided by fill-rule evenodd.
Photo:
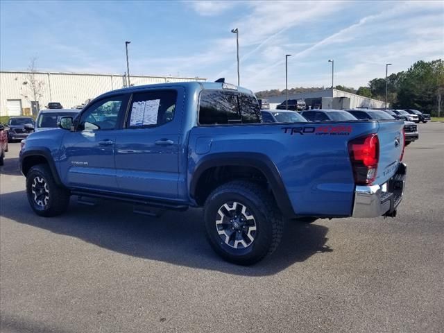
<instances>
[{"instance_id":1,"label":"black rubber tire of blue pickup's rear wheel, without the rim","mask_svg":"<svg viewBox=\"0 0 444 333\"><path fill-rule=\"evenodd\" d=\"M223 209L224 204L230 205L232 203L232 207L234 207L234 202L239 204L242 209L246 207L246 212L249 214L247 218L250 219L250 216L253 216L255 223L254 240L250 241L247 238L250 234L248 232L245 239L250 241L250 244L243 248L233 248L228 245L226 243L228 236L226 234L221 236L220 230L218 230L221 227L216 224L218 219L221 221L228 219L228 223L223 223L223 225L230 225L230 218L220 217L219 212ZM214 189L205 201L203 216L210 245L223 259L234 264L251 265L259 262L266 255L273 253L282 239L284 219L282 219L275 199L264 187L253 182L233 180ZM240 216L239 219L241 219ZM228 229L230 228L226 230ZM237 232L242 234L239 230ZM236 234L234 234L234 239L237 239ZM234 243L235 245L236 243Z\"/></svg>"}]
</instances>

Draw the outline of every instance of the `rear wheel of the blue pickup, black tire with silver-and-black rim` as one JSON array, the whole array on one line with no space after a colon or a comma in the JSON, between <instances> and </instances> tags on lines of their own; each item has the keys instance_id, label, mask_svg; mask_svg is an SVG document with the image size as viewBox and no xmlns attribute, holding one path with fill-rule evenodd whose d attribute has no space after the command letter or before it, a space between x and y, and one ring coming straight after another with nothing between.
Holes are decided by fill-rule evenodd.
<instances>
[{"instance_id":1,"label":"rear wheel of the blue pickup, black tire with silver-and-black rim","mask_svg":"<svg viewBox=\"0 0 444 333\"><path fill-rule=\"evenodd\" d=\"M203 214L213 250L234 264L259 262L282 238L284 222L273 196L252 182L235 180L216 188Z\"/></svg>"}]
</instances>

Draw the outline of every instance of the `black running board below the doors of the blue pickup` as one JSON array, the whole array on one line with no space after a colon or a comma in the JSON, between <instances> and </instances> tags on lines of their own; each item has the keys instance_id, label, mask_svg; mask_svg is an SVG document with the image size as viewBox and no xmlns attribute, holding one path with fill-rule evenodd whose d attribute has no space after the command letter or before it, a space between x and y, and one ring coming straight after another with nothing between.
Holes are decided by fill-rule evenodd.
<instances>
[{"instance_id":1,"label":"black running board below the doors of the blue pickup","mask_svg":"<svg viewBox=\"0 0 444 333\"><path fill-rule=\"evenodd\" d=\"M108 200L117 200L122 203L132 203L133 205L143 205L148 207L157 207L163 208L166 210L179 210L184 211L188 209L188 205L182 205L178 203L173 203L169 201L162 200L148 200L144 198L134 198L130 196L114 196L112 194L104 194L97 192L89 192L89 191L80 191L78 189L71 190L71 194L74 196L79 196L82 203L86 203L86 200L83 198L99 198L99 199L108 199Z\"/></svg>"}]
</instances>

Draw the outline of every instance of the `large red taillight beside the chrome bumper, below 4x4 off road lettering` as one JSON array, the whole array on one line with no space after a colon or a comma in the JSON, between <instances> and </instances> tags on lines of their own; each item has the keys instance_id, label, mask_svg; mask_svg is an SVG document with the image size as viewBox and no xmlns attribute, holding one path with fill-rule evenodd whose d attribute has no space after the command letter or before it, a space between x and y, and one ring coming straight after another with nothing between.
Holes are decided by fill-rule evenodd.
<instances>
[{"instance_id":1,"label":"large red taillight beside the chrome bumper, below 4x4 off road lettering","mask_svg":"<svg viewBox=\"0 0 444 333\"><path fill-rule=\"evenodd\" d=\"M348 142L353 176L357 185L371 185L376 179L379 162L379 139L377 134L357 137Z\"/></svg>"}]
</instances>

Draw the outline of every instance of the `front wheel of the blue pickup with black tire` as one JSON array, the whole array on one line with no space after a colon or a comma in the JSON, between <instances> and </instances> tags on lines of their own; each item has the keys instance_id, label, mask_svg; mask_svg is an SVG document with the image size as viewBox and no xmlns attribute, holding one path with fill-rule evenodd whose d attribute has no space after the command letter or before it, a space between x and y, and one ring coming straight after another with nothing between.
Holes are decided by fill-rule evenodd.
<instances>
[{"instance_id":1,"label":"front wheel of the blue pickup with black tire","mask_svg":"<svg viewBox=\"0 0 444 333\"><path fill-rule=\"evenodd\" d=\"M67 210L69 191L56 184L46 164L37 164L26 175L26 194L35 214L57 216Z\"/></svg>"}]
</instances>

